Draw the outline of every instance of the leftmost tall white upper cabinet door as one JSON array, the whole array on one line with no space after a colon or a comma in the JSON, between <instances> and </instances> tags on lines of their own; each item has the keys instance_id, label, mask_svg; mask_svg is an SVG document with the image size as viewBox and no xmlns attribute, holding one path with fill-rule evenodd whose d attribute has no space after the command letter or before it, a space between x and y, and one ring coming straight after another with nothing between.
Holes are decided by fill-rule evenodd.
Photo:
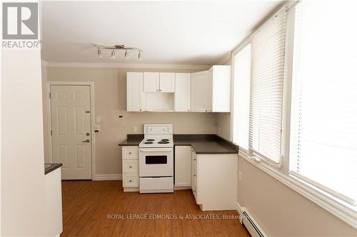
<instances>
[{"instance_id":1,"label":"leftmost tall white upper cabinet door","mask_svg":"<svg viewBox=\"0 0 357 237\"><path fill-rule=\"evenodd\" d=\"M126 110L141 111L143 73L126 73Z\"/></svg>"}]
</instances>

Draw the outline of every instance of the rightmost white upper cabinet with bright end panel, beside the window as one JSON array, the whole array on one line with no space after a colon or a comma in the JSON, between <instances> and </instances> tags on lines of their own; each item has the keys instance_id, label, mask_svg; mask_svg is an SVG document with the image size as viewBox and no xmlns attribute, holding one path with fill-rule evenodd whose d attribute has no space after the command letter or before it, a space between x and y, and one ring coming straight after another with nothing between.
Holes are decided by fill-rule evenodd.
<instances>
[{"instance_id":1,"label":"rightmost white upper cabinet with bright end panel, beside the window","mask_svg":"<svg viewBox=\"0 0 357 237\"><path fill-rule=\"evenodd\" d=\"M213 65L191 74L192 112L230 112L231 66Z\"/></svg>"}]
</instances>

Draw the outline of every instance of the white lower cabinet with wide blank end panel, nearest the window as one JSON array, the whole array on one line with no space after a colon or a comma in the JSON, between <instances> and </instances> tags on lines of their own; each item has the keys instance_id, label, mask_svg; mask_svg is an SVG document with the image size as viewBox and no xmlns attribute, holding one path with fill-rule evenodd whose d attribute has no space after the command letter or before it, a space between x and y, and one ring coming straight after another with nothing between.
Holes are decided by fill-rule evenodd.
<instances>
[{"instance_id":1,"label":"white lower cabinet with wide blank end panel, nearest the window","mask_svg":"<svg viewBox=\"0 0 357 237\"><path fill-rule=\"evenodd\" d=\"M237 154L192 152L192 192L202 211L235 210L237 182Z\"/></svg>"}]
</instances>

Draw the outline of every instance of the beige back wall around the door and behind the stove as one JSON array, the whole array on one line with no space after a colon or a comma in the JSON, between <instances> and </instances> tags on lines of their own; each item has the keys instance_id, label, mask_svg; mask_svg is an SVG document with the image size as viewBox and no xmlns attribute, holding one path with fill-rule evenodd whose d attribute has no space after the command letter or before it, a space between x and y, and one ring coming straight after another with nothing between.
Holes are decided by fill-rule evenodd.
<instances>
[{"instance_id":1,"label":"beige back wall around the door and behind the stove","mask_svg":"<svg viewBox=\"0 0 357 237\"><path fill-rule=\"evenodd\" d=\"M197 112L126 112L126 72L159 71L191 73L194 70L122 69L122 68L44 68L47 81L94 82L95 117L101 117L101 133L96 135L96 174L121 174L121 148L118 144L144 123L172 123L174 133L216 133L216 115ZM44 92L44 103L48 100ZM44 105L44 120L47 120ZM122 115L123 118L119 118ZM46 130L47 127L45 127ZM48 132L45 131L45 147ZM46 149L46 157L49 157ZM48 158L46 158L47 160Z\"/></svg>"}]
</instances>

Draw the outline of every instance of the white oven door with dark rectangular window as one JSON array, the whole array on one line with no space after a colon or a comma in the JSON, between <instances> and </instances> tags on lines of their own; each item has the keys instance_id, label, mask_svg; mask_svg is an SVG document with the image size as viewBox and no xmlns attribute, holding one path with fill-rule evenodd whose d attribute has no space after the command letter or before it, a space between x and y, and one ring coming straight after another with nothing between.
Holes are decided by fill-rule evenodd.
<instances>
[{"instance_id":1,"label":"white oven door with dark rectangular window","mask_svg":"<svg viewBox=\"0 0 357 237\"><path fill-rule=\"evenodd\" d=\"M140 177L171 177L174 176L173 148L140 148Z\"/></svg>"}]
</instances>

